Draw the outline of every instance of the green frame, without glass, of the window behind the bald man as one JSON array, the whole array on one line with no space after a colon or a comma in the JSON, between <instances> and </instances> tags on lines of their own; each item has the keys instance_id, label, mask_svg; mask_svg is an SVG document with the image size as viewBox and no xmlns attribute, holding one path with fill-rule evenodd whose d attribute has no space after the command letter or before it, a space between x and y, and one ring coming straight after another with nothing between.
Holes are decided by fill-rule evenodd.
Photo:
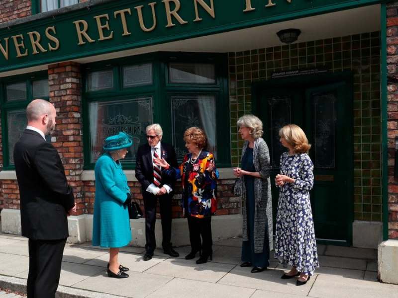
<instances>
[{"instance_id":1,"label":"green frame, without glass, of the window behind the bald man","mask_svg":"<svg viewBox=\"0 0 398 298\"><path fill-rule=\"evenodd\" d=\"M8 144L8 111L26 109L27 105L35 99L33 97L33 81L47 79L47 71L35 72L30 74L18 74L0 78L0 113L1 113L1 136L3 167L2 170L15 170L15 166L9 162L9 144ZM26 83L26 99L7 102L6 85L18 82ZM41 99L49 100L49 96L41 96Z\"/></svg>"}]
</instances>

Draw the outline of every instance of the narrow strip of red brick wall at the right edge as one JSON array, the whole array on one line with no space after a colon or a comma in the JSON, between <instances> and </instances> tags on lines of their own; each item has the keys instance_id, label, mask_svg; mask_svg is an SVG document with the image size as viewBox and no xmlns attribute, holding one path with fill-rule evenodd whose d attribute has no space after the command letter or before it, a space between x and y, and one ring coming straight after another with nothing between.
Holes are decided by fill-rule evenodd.
<instances>
[{"instance_id":1,"label":"narrow strip of red brick wall at the right edge","mask_svg":"<svg viewBox=\"0 0 398 298\"><path fill-rule=\"evenodd\" d=\"M398 136L398 2L387 5L389 238L398 239L398 180L394 178L395 137Z\"/></svg>"}]
</instances>

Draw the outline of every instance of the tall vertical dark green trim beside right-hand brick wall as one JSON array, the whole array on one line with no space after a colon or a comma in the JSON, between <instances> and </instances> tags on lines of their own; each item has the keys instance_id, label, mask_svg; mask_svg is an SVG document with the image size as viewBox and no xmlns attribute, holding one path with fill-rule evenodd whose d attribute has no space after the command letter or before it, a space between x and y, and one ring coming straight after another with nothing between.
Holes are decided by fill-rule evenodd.
<instances>
[{"instance_id":1,"label":"tall vertical dark green trim beside right-hand brick wall","mask_svg":"<svg viewBox=\"0 0 398 298\"><path fill-rule=\"evenodd\" d=\"M387 134L387 7L383 3L381 13L381 100L382 100L382 202L383 202L383 240L389 238L389 202L388 202L388 134ZM398 158L396 156L395 158Z\"/></svg>"}]
</instances>

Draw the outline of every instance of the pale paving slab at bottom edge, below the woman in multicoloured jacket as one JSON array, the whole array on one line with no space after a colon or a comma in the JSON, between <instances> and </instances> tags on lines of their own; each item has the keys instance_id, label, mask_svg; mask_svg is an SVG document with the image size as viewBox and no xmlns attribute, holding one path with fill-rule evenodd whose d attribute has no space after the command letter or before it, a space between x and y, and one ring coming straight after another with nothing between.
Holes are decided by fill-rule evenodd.
<instances>
[{"instance_id":1,"label":"pale paving slab at bottom edge, below the woman in multicoloured jacket","mask_svg":"<svg viewBox=\"0 0 398 298\"><path fill-rule=\"evenodd\" d=\"M175 278L147 298L249 298L255 289Z\"/></svg>"}]
</instances>

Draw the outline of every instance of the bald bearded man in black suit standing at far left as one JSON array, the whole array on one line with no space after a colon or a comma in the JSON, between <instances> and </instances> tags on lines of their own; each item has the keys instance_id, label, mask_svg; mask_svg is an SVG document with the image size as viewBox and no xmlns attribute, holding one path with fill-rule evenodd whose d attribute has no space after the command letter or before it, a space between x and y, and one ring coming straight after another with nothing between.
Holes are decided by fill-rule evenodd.
<instances>
[{"instance_id":1,"label":"bald bearded man in black suit standing at far left","mask_svg":"<svg viewBox=\"0 0 398 298\"><path fill-rule=\"evenodd\" d=\"M55 129L56 116L51 103L33 100L26 108L28 126L14 147L22 236L29 238L28 298L55 298L67 216L76 211L58 152L45 139Z\"/></svg>"}]
</instances>

